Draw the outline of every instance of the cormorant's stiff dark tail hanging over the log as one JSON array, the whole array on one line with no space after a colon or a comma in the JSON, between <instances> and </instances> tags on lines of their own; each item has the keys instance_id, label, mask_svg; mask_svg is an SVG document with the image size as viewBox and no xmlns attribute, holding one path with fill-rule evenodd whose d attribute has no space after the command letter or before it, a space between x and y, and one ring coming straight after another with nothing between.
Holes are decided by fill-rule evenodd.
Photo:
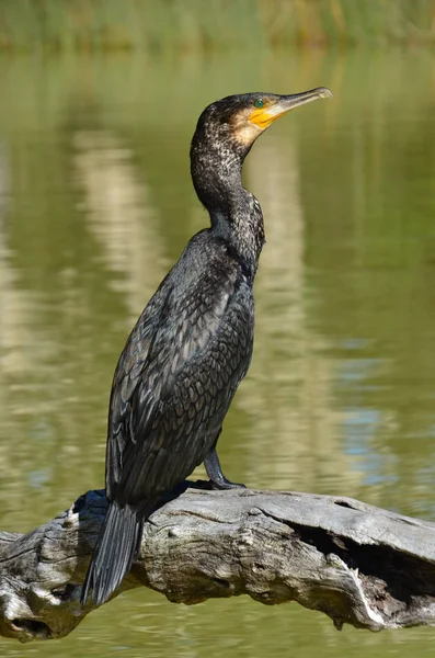
<instances>
[{"instance_id":1,"label":"cormorant's stiff dark tail hanging over the log","mask_svg":"<svg viewBox=\"0 0 435 658\"><path fill-rule=\"evenodd\" d=\"M81 590L82 605L91 589L92 599L101 605L119 587L139 551L142 530L142 514L129 506L110 503Z\"/></svg>"}]
</instances>

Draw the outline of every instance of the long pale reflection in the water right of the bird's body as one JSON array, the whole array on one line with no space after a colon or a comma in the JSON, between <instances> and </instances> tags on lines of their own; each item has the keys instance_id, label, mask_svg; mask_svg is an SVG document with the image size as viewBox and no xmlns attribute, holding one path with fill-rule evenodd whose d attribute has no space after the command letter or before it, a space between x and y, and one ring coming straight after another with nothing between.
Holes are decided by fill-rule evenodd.
<instances>
[{"instance_id":1,"label":"long pale reflection in the water right of the bird's body","mask_svg":"<svg viewBox=\"0 0 435 658\"><path fill-rule=\"evenodd\" d=\"M262 163L273 162L264 169ZM253 477L278 488L322 487L350 467L332 406L333 362L307 322L305 226L299 163L293 140L261 141L247 164L261 198L267 243L255 284L255 355L238 404L252 413ZM344 484L342 478L341 484Z\"/></svg>"}]
</instances>

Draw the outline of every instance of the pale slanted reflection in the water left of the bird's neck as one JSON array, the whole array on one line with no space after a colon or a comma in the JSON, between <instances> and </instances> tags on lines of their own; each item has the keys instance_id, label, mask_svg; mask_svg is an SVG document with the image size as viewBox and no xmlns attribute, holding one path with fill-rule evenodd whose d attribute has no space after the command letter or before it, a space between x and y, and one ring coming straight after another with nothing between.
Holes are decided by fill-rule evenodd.
<instances>
[{"instance_id":1,"label":"pale slanted reflection in the water left of the bird's neck","mask_svg":"<svg viewBox=\"0 0 435 658\"><path fill-rule=\"evenodd\" d=\"M133 154L116 136L82 131L75 136L75 147L83 209L104 247L106 265L125 277L123 282L113 280L112 285L125 294L131 314L125 319L131 322L164 275L164 269L158 266L162 246L153 227L147 185L136 182Z\"/></svg>"}]
</instances>

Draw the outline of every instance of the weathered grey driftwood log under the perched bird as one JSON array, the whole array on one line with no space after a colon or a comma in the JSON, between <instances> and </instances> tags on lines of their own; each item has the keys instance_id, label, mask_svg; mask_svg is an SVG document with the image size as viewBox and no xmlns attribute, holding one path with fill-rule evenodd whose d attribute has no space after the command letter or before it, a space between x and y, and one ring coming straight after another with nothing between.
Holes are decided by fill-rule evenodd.
<instances>
[{"instance_id":1,"label":"weathered grey driftwood log under the perched bird","mask_svg":"<svg viewBox=\"0 0 435 658\"><path fill-rule=\"evenodd\" d=\"M146 523L119 592L145 586L187 604L297 601L337 628L435 624L435 523L350 498L183 489ZM27 535L0 533L1 635L62 637L92 611L79 595L105 509L104 491L89 491Z\"/></svg>"}]
</instances>

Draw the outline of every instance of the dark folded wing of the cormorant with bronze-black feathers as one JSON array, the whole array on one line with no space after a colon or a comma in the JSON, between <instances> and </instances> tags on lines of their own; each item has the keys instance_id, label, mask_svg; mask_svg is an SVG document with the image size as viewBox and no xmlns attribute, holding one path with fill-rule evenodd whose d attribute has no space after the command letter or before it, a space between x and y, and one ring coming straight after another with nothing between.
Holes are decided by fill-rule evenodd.
<instances>
[{"instance_id":1,"label":"dark folded wing of the cormorant with bronze-black feathers","mask_svg":"<svg viewBox=\"0 0 435 658\"><path fill-rule=\"evenodd\" d=\"M219 408L219 390L233 394L232 371L219 359L232 355L227 340L237 273L222 279L211 272L182 286L183 294L164 283L134 328L114 376L106 490L122 504L139 503L186 477L196 465L192 451L198 452L195 445L186 450L186 440L198 441ZM240 345L231 344L236 354Z\"/></svg>"}]
</instances>

